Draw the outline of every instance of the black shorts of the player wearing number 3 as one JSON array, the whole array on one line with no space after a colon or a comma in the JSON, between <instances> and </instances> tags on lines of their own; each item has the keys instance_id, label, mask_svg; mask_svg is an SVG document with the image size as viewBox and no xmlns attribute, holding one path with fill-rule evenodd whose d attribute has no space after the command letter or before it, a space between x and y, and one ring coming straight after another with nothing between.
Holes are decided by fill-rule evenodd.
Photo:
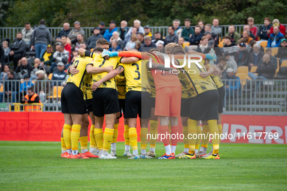
<instances>
[{"instance_id":1,"label":"black shorts of the player wearing number 3","mask_svg":"<svg viewBox=\"0 0 287 191\"><path fill-rule=\"evenodd\" d=\"M136 118L137 114L142 119L151 117L151 102L149 92L129 91L125 98L125 118Z\"/></svg>"}]
</instances>

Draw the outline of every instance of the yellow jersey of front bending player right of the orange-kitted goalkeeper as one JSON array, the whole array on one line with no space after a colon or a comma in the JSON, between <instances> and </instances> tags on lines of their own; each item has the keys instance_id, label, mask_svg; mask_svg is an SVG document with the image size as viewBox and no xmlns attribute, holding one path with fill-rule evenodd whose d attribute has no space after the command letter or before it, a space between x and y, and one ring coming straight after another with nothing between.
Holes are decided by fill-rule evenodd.
<instances>
[{"instance_id":1,"label":"yellow jersey of front bending player right of the orange-kitted goalkeeper","mask_svg":"<svg viewBox=\"0 0 287 191\"><path fill-rule=\"evenodd\" d=\"M179 65L183 65L184 63L183 59L176 59L176 61L179 63ZM215 83L210 76L207 78L202 78L200 76L200 73L206 72L206 68L203 62L204 61L199 63L202 68L200 68L195 63L191 63L190 68L188 68L188 64L186 64L183 68L180 69L184 73L186 79L190 81L191 88L194 89L193 97L208 90L217 90Z\"/></svg>"}]
</instances>

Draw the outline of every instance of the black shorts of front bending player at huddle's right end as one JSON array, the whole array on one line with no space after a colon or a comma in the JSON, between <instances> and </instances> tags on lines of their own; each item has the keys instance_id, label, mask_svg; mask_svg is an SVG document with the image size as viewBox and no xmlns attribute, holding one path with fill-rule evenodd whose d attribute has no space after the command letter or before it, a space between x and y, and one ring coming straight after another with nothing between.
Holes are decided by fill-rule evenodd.
<instances>
[{"instance_id":1,"label":"black shorts of front bending player at huddle's right end","mask_svg":"<svg viewBox=\"0 0 287 191\"><path fill-rule=\"evenodd\" d=\"M208 90L194 97L189 111L189 119L218 120L219 94L217 90Z\"/></svg>"}]
</instances>

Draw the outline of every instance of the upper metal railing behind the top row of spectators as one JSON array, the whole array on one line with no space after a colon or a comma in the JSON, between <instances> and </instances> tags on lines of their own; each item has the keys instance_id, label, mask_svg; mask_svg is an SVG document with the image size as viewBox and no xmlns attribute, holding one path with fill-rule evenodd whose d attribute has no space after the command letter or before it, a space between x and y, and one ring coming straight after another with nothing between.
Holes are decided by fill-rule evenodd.
<instances>
[{"instance_id":1,"label":"upper metal railing behind the top row of spectators","mask_svg":"<svg viewBox=\"0 0 287 191\"><path fill-rule=\"evenodd\" d=\"M256 24L255 26L258 27L258 29L263 26L264 24ZM287 24L281 24L284 25L285 27L287 27ZM235 26L235 31L238 33L243 32L243 27L244 25L234 25ZM185 28L185 26L181 26L182 28ZM192 28L194 28L195 26L191 26ZM221 27L222 32L220 33L220 37L222 39L222 37L228 33L228 27L229 25L219 25L219 27ZM21 32L22 29L24 27L0 27L0 39L3 38L10 38L11 42L14 41L14 39L16 38L17 32ZM57 36L57 34L63 29L62 27L47 27L50 32L51 32L51 36L53 38L55 38ZM162 26L162 27L151 27L152 29L152 33L154 33L155 31L159 31L161 32L162 36L166 36L168 34L168 26ZM70 29L74 29L74 27L70 27ZM94 29L94 27L82 27L82 29L84 29L85 31L85 37L84 39L87 39L88 37L90 37L93 33L92 30ZM108 27L106 27L106 29L108 29Z\"/></svg>"}]
</instances>

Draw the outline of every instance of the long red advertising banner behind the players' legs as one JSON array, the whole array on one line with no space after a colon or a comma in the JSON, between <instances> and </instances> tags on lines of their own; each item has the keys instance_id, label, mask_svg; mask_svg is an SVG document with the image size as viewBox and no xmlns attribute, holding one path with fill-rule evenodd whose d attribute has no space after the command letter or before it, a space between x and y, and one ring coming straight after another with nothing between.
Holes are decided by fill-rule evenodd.
<instances>
[{"instance_id":1,"label":"long red advertising banner behind the players' legs","mask_svg":"<svg viewBox=\"0 0 287 191\"><path fill-rule=\"evenodd\" d=\"M181 119L179 124L180 121ZM60 141L63 125L64 115L61 112L0 112L0 140ZM124 124L121 118L118 142L124 141L123 132ZM140 133L139 119L137 133ZM179 134L181 133L182 126ZM222 115L221 142L286 144L287 116Z\"/></svg>"}]
</instances>

